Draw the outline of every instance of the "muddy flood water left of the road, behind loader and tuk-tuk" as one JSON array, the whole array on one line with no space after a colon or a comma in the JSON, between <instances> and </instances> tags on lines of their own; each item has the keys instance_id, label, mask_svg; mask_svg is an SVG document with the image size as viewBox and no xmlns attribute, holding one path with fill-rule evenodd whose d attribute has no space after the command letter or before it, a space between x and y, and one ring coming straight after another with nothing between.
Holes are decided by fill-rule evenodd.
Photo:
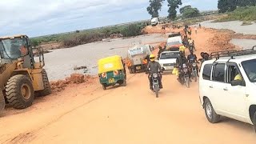
<instances>
[{"instance_id":1,"label":"muddy flood water left of the road, behind loader and tuk-tuk","mask_svg":"<svg viewBox=\"0 0 256 144\"><path fill-rule=\"evenodd\" d=\"M126 58L128 47L132 42L141 41L142 44L162 42L161 34L148 34L135 38L116 39L111 42L94 42L86 45L75 46L68 49L53 50L45 54L45 69L50 81L69 77L70 74L81 73L84 70L74 70L74 66L87 66L86 74L97 74L97 61L99 58L105 58L118 54ZM154 46L155 44L150 44Z\"/></svg>"}]
</instances>

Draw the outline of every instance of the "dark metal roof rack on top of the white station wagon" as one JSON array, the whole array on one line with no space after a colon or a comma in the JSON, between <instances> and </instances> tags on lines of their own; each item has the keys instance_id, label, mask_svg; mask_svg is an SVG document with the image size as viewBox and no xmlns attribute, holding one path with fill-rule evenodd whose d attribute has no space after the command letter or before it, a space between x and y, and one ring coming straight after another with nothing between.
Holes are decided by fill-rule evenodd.
<instances>
[{"instance_id":1,"label":"dark metal roof rack on top of the white station wagon","mask_svg":"<svg viewBox=\"0 0 256 144\"><path fill-rule=\"evenodd\" d=\"M222 57L230 57L233 58L234 56L242 56L242 55L249 55L249 54L256 54L256 46L248 50L226 50L226 51L216 51L210 53L210 58L222 58Z\"/></svg>"}]
</instances>

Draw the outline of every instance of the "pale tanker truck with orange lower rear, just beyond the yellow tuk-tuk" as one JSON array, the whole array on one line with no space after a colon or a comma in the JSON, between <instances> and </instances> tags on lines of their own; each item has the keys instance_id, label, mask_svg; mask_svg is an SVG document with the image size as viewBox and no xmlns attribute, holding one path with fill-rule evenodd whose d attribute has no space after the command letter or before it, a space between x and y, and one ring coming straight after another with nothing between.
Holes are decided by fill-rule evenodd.
<instances>
[{"instance_id":1,"label":"pale tanker truck with orange lower rear, just beyond the yellow tuk-tuk","mask_svg":"<svg viewBox=\"0 0 256 144\"><path fill-rule=\"evenodd\" d=\"M147 57L152 54L150 46L136 45L128 50L128 70L130 74L134 74L138 71L145 72L148 64Z\"/></svg>"}]
</instances>

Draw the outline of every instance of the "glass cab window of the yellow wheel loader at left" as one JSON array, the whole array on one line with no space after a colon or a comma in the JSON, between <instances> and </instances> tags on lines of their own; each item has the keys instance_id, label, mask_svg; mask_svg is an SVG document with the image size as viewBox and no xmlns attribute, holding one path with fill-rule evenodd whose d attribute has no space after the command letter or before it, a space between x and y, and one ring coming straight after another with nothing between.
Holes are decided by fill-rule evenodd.
<instances>
[{"instance_id":1,"label":"glass cab window of the yellow wheel loader at left","mask_svg":"<svg viewBox=\"0 0 256 144\"><path fill-rule=\"evenodd\" d=\"M1 58L16 59L28 53L26 38L4 39L0 41Z\"/></svg>"}]
</instances>

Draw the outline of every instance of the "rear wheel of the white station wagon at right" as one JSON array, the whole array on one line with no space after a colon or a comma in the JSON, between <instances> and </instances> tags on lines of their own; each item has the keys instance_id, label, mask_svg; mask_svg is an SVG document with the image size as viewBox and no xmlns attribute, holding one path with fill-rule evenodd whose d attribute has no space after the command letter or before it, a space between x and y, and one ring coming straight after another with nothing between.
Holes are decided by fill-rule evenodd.
<instances>
[{"instance_id":1,"label":"rear wheel of the white station wagon at right","mask_svg":"<svg viewBox=\"0 0 256 144\"><path fill-rule=\"evenodd\" d=\"M211 123L219 122L220 115L216 114L214 107L211 105L210 100L206 98L206 102L204 103L206 118Z\"/></svg>"}]
</instances>

